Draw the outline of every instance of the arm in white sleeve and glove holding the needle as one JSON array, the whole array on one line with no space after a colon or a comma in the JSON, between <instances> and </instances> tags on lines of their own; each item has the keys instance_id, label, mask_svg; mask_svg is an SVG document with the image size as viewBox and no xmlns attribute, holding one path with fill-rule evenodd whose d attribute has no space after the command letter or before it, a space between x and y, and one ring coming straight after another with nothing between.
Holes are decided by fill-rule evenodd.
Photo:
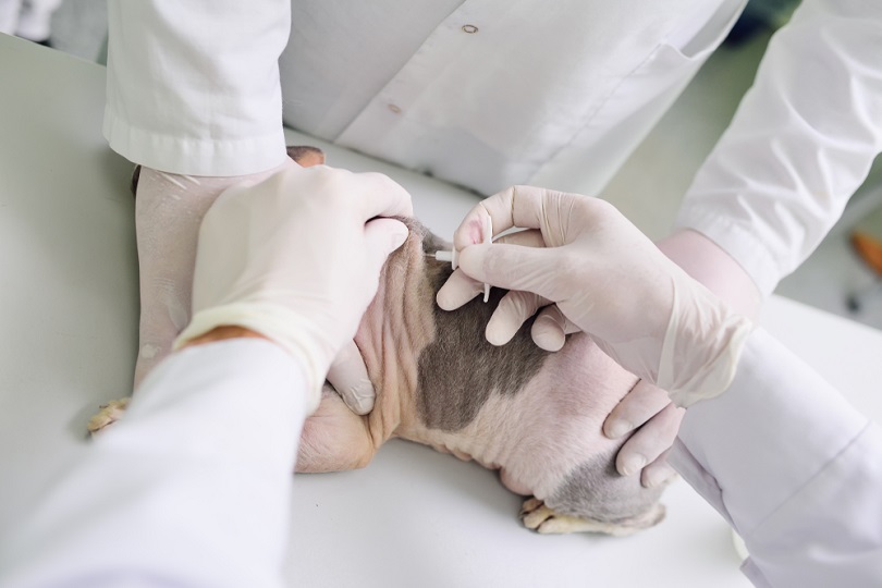
<instances>
[{"instance_id":1,"label":"arm in white sleeve and glove holding the needle","mask_svg":"<svg viewBox=\"0 0 882 588\"><path fill-rule=\"evenodd\" d=\"M494 234L527 231L483 244ZM667 259L603 200L516 186L455 234L452 310L475 284L528 294L686 407L670 461L744 538L755 586L882 585L882 429ZM497 308L497 336L525 317ZM503 343L504 344L504 343ZM685 561L685 560L684 560Z\"/></svg>"}]
</instances>

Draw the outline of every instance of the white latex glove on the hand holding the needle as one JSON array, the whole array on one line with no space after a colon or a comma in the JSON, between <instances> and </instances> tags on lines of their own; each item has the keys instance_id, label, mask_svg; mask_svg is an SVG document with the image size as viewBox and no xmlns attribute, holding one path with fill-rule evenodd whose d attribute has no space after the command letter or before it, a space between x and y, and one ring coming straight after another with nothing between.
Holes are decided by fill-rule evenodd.
<instances>
[{"instance_id":1,"label":"white latex glove on the hand holding the needle","mask_svg":"<svg viewBox=\"0 0 882 588\"><path fill-rule=\"evenodd\" d=\"M519 238L541 240L544 247L468 245L482 241L487 216L495 232L531 229ZM588 332L625 369L666 390L677 406L728 387L752 328L597 198L509 188L469 212L454 245L463 247L460 269L466 275L556 303L548 313L558 314L564 332ZM463 297L462 279L452 292L448 285L438 295L445 309ZM505 313L500 308L497 314Z\"/></svg>"}]
</instances>

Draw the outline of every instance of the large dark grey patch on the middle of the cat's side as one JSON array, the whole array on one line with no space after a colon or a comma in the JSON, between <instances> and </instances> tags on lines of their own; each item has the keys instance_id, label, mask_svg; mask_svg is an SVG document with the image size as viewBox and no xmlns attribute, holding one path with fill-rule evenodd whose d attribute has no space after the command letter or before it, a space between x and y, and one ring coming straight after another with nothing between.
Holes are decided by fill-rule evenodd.
<instances>
[{"instance_id":1,"label":"large dark grey patch on the middle of the cat's side","mask_svg":"<svg viewBox=\"0 0 882 588\"><path fill-rule=\"evenodd\" d=\"M433 253L450 244L427 233L422 248ZM450 264L428 259L426 273L437 293L452 270ZM487 304L479 296L450 313L432 304L436 340L422 350L417 365L417 413L426 427L457 431L475 419L492 391L515 395L541 369L549 352L532 342L532 319L509 344L487 342L485 329L504 294L493 289Z\"/></svg>"}]
</instances>

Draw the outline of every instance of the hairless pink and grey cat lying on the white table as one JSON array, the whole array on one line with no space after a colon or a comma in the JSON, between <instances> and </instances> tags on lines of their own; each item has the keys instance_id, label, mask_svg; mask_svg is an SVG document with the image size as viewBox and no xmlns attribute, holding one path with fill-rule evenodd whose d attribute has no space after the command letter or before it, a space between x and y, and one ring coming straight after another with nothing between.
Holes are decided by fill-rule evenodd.
<instances>
[{"instance_id":1,"label":"hairless pink and grey cat lying on the white table","mask_svg":"<svg viewBox=\"0 0 882 588\"><path fill-rule=\"evenodd\" d=\"M313 148L289 152L304 164L323 162ZM416 219L402 220L411 234L387 261L355 338L377 391L373 411L354 414L326 383L304 426L296 471L365 467L397 437L499 469L511 491L530 497L520 517L539 532L628 535L661 522L663 489L618 475L615 456L626 439L601 430L637 378L583 333L556 353L534 344L529 322L509 344L488 343L485 327L504 292L441 310L436 293L452 270L426 254L451 244ZM124 406L105 407L89 430Z\"/></svg>"}]
</instances>

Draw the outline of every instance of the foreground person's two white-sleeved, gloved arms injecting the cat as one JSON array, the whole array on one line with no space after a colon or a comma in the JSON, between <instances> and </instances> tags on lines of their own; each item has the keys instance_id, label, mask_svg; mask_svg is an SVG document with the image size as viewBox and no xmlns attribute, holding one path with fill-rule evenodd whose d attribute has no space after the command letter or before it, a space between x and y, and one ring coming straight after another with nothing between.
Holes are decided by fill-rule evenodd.
<instances>
[{"instance_id":1,"label":"foreground person's two white-sleeved, gloved arms injecting the cat","mask_svg":"<svg viewBox=\"0 0 882 588\"><path fill-rule=\"evenodd\" d=\"M221 195L200 230L181 351L36 500L0 547L0 585L282 586L301 428L406 237L376 217L409 212L389 179L324 167ZM488 215L495 231L532 231L469 245L471 221ZM468 298L464 271L535 292L567 330L688 406L672 462L743 535L755 585L882 583L879 427L613 207L518 187L477 208L457 238L445 305ZM316 241L320 259L298 255ZM520 320L511 307L497 315Z\"/></svg>"}]
</instances>

